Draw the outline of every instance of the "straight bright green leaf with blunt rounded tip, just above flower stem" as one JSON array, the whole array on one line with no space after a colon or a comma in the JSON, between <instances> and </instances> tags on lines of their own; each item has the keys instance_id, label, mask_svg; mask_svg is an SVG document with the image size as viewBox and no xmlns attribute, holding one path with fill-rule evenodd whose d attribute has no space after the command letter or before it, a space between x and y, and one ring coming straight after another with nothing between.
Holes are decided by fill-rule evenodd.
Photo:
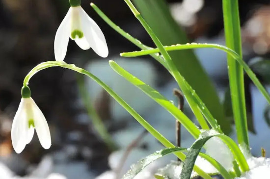
<instances>
[{"instance_id":1,"label":"straight bright green leaf with blunt rounded tip, just above flower stem","mask_svg":"<svg viewBox=\"0 0 270 179\"><path fill-rule=\"evenodd\" d=\"M152 98L157 103L159 103L162 107L168 110L177 120L181 122L181 124L189 131L189 133L192 136L194 136L195 138L199 137L200 131L191 122L191 120L181 110L179 110L174 104L172 104L164 96L162 96L158 91L156 91L149 85L145 84L138 78L134 77L133 75L125 71L122 67L120 67L114 61L110 60L109 65L116 73L124 77L126 80L128 80L133 85L135 85L140 90L142 90L145 94L147 94L150 98Z\"/></svg>"}]
</instances>

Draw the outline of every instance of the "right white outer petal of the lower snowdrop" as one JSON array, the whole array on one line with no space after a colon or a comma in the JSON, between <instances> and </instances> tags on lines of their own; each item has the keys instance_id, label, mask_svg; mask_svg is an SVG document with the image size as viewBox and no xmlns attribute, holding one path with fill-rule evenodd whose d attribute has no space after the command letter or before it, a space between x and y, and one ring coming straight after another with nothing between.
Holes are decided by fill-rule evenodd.
<instances>
[{"instance_id":1,"label":"right white outer petal of the lower snowdrop","mask_svg":"<svg viewBox=\"0 0 270 179\"><path fill-rule=\"evenodd\" d=\"M32 102L33 102L34 124L39 142L44 149L49 149L52 145L52 141L48 123L43 113L36 105L36 103L33 100Z\"/></svg>"}]
</instances>

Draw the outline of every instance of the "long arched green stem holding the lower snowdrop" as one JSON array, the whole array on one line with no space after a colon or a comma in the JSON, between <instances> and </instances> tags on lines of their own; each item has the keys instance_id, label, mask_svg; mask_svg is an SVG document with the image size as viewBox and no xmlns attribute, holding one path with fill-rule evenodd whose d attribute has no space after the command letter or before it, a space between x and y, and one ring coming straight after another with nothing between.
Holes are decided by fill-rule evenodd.
<instances>
[{"instance_id":1,"label":"long arched green stem holding the lower snowdrop","mask_svg":"<svg viewBox=\"0 0 270 179\"><path fill-rule=\"evenodd\" d=\"M33 77L34 74L36 74L37 72L44 70L46 68L50 68L50 67L67 68L67 69L76 71L78 73L86 75L87 77L92 78L101 87L103 87L112 98L114 98L120 105L122 105L149 133L151 133L157 140L159 140L162 143L162 145L164 145L166 148L174 148L175 147L161 133L159 133L149 123L147 123L128 103L126 103L121 97L119 97L107 84L105 84L103 81L101 81L98 77L94 76L90 72L88 72L82 68L76 67L74 64L67 64L63 61L47 61L47 62L41 63L41 64L37 65L36 67L34 67L27 74L27 76L24 79L24 86L29 83L30 78ZM184 153L175 153L175 155L183 161L186 158L186 155ZM194 166L194 171L197 172L204 179L212 179L207 173L202 171L197 166Z\"/></svg>"}]
</instances>

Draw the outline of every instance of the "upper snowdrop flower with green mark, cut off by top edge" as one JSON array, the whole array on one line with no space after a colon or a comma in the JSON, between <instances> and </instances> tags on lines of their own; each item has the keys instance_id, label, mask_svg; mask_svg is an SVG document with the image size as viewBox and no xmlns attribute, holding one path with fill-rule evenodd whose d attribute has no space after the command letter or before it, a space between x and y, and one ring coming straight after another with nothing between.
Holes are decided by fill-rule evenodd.
<instances>
[{"instance_id":1,"label":"upper snowdrop flower with green mark, cut off by top edge","mask_svg":"<svg viewBox=\"0 0 270 179\"><path fill-rule=\"evenodd\" d=\"M92 48L99 56L108 56L108 47L99 26L81 8L81 0L69 0L70 9L58 27L54 39L56 61L63 61L69 38L74 40L82 50Z\"/></svg>"}]
</instances>

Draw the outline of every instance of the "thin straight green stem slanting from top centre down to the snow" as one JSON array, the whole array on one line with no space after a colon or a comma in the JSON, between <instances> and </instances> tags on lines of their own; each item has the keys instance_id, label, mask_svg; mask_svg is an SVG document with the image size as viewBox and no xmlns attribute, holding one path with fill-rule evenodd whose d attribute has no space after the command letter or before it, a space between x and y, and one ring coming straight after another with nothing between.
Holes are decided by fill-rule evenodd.
<instances>
[{"instance_id":1,"label":"thin straight green stem slanting from top centre down to the snow","mask_svg":"<svg viewBox=\"0 0 270 179\"><path fill-rule=\"evenodd\" d=\"M153 30L150 28L150 26L148 26L148 24L142 18L142 16L139 13L134 12L133 9L135 9L135 6L132 4L132 2L130 0L124 0L124 1L128 4L130 9L134 13L135 17L138 19L138 21L141 23L141 25L145 28L145 30L148 32L148 34L152 38L153 42L156 44L156 46L161 51L162 56L163 56L166 64L168 65L169 71L171 72L171 74L175 78L175 80L177 81L179 87L182 89L185 97L187 98L187 101L189 102L190 108L192 109L194 115L196 116L200 126L203 129L209 129L209 126L208 126L207 122L205 121L202 113L200 112L200 109L198 108L198 105L196 104L196 102L194 102L193 98L191 97L192 94L191 94L191 92L189 91L189 89L186 86L184 77L181 76L181 74L177 70L177 68L176 68L174 62L172 61L170 55L164 49L164 47L162 46L162 43L160 42L158 37L155 35Z\"/></svg>"}]
</instances>

